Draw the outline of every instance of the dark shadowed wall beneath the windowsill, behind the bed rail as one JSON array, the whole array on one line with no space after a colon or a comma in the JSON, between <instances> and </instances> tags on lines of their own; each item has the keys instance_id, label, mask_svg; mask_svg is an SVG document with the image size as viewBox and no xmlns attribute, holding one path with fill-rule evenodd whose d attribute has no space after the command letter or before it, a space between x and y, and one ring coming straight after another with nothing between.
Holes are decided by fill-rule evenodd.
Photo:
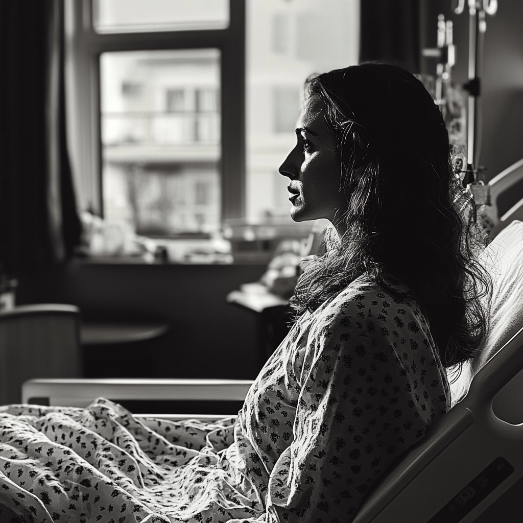
<instances>
[{"instance_id":1,"label":"dark shadowed wall beneath the windowsill, behind the bed rail","mask_svg":"<svg viewBox=\"0 0 523 523\"><path fill-rule=\"evenodd\" d=\"M20 278L23 303L71 303L84 320L165 322L150 342L84 350L91 377L243 378L260 369L256 315L226 303L262 265L119 265L73 261ZM131 346L132 345L132 346Z\"/></svg>"}]
</instances>

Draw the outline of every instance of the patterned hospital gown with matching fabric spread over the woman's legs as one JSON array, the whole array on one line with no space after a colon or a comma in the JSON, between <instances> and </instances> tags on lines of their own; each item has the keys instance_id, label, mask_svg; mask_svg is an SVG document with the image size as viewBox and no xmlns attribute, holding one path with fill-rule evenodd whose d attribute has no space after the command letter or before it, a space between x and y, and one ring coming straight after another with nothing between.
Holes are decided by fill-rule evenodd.
<instances>
[{"instance_id":1,"label":"patterned hospital gown with matching fabric spread over the woman's legs","mask_svg":"<svg viewBox=\"0 0 523 523\"><path fill-rule=\"evenodd\" d=\"M2 407L0 504L38 523L345 523L449 404L418 306L360 277L300 317L238 416Z\"/></svg>"}]
</instances>

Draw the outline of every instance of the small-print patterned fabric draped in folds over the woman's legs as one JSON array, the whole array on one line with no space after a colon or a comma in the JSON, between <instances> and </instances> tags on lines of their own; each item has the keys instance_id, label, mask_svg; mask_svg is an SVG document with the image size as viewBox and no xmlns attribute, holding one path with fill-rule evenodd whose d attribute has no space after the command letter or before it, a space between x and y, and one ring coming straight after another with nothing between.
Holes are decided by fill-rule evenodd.
<instances>
[{"instance_id":1,"label":"small-print patterned fabric draped in folds over the woman's legs","mask_svg":"<svg viewBox=\"0 0 523 523\"><path fill-rule=\"evenodd\" d=\"M220 450L234 441L234 421L138 419L105 399L86 409L0 407L0 504L38 523L234 519L233 493L209 492L206 481L217 470L227 479ZM173 508L178 517L167 516Z\"/></svg>"}]
</instances>

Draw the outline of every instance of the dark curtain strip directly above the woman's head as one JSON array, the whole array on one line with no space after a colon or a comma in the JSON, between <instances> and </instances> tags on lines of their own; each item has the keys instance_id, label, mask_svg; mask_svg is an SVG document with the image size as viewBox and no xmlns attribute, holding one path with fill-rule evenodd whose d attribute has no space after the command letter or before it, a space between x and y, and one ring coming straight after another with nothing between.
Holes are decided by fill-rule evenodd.
<instances>
[{"instance_id":1,"label":"dark curtain strip directly above the woman's head","mask_svg":"<svg viewBox=\"0 0 523 523\"><path fill-rule=\"evenodd\" d=\"M360 62L385 62L419 73L420 0L361 0Z\"/></svg>"}]
</instances>

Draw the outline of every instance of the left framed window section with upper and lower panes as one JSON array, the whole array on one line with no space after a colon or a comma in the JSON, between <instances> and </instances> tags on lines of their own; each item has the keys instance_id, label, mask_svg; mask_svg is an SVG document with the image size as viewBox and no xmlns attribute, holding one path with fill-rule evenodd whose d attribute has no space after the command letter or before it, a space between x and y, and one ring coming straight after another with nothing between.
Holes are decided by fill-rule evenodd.
<instances>
[{"instance_id":1,"label":"left framed window section with upper and lower panes","mask_svg":"<svg viewBox=\"0 0 523 523\"><path fill-rule=\"evenodd\" d=\"M66 6L81 207L149 236L205 236L223 219L241 218L243 0Z\"/></svg>"}]
</instances>

